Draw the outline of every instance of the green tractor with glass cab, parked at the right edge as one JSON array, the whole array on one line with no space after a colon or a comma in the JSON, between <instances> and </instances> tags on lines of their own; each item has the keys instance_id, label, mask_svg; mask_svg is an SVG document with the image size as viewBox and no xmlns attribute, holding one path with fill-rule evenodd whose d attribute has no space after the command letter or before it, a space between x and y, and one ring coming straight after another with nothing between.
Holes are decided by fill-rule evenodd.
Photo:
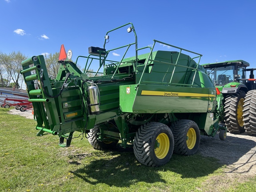
<instances>
[{"instance_id":1,"label":"green tractor with glass cab, parked at the right edge","mask_svg":"<svg viewBox=\"0 0 256 192\"><path fill-rule=\"evenodd\" d=\"M247 69L249 63L244 60L202 64L202 66L214 82L218 107L224 108L222 110L224 114L221 116L224 117L222 121L225 122L228 131L242 133L246 130L249 134L256 134L256 127L249 123L253 120L250 113L256 112L253 108L249 109L249 105L252 104L252 93L256 89L253 74L256 69ZM250 76L249 79L246 79L248 71Z\"/></svg>"}]
</instances>

